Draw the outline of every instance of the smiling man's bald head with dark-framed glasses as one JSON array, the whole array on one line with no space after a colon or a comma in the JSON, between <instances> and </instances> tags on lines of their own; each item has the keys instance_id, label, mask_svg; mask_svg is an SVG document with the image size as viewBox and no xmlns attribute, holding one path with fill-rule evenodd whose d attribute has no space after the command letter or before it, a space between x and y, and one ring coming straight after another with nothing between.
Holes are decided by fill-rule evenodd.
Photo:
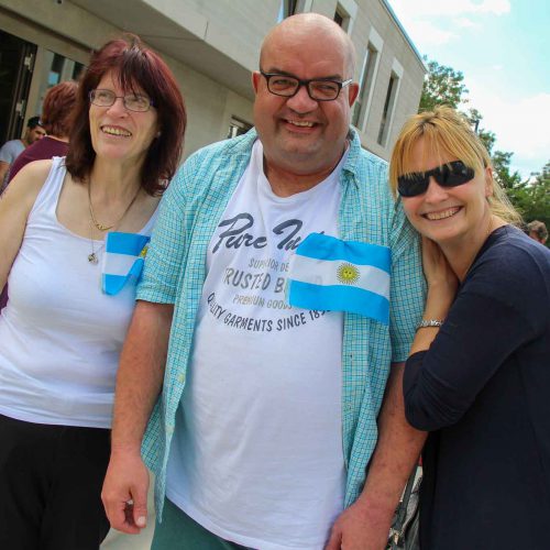
<instances>
[{"instance_id":1,"label":"smiling man's bald head with dark-framed glasses","mask_svg":"<svg viewBox=\"0 0 550 550\"><path fill-rule=\"evenodd\" d=\"M260 72L253 73L252 85L256 94L254 125L272 184L274 174L280 182L288 182L292 175L293 185L306 190L337 166L345 150L351 107L359 91L353 72L354 50L349 36L323 15L293 15L265 37ZM297 87L289 95L279 94L289 80ZM336 90L334 97L319 99L327 89L331 95Z\"/></svg>"}]
</instances>

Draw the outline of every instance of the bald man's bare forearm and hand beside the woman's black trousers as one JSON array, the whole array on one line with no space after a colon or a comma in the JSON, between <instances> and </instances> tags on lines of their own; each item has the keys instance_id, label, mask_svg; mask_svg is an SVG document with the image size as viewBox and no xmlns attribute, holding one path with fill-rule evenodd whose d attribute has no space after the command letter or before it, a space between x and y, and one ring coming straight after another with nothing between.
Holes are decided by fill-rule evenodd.
<instances>
[{"instance_id":1,"label":"bald man's bare forearm and hand beside the woman's black trousers","mask_svg":"<svg viewBox=\"0 0 550 550\"><path fill-rule=\"evenodd\" d=\"M141 443L163 384L173 310L138 301L117 374L111 461L101 499L111 527L132 535L147 522L148 471Z\"/></svg>"}]
</instances>

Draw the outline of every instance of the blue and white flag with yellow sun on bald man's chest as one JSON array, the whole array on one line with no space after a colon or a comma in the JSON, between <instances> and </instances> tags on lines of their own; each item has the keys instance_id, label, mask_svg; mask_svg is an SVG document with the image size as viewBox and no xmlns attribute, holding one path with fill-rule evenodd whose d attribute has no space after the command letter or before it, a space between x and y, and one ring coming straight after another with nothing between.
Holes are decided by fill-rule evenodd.
<instances>
[{"instance_id":1,"label":"blue and white flag with yellow sun on bald man's chest","mask_svg":"<svg viewBox=\"0 0 550 550\"><path fill-rule=\"evenodd\" d=\"M288 302L388 324L391 266L387 246L311 233L290 261Z\"/></svg>"}]
</instances>

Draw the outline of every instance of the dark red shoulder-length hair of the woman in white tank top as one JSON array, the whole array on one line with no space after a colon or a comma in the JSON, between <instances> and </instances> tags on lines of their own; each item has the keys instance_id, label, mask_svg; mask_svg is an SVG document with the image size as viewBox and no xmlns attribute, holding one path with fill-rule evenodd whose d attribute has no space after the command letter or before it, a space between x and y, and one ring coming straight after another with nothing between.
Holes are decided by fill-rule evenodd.
<instances>
[{"instance_id":1,"label":"dark red shoulder-length hair of the woman in white tank top","mask_svg":"<svg viewBox=\"0 0 550 550\"><path fill-rule=\"evenodd\" d=\"M141 185L147 194L160 195L178 166L187 116L172 70L158 54L145 47L133 34L108 42L91 55L78 87L67 170L77 182L84 182L91 170L96 152L90 138L89 94L110 70L114 72L123 90L141 88L153 100L161 134L148 147L141 170Z\"/></svg>"}]
</instances>

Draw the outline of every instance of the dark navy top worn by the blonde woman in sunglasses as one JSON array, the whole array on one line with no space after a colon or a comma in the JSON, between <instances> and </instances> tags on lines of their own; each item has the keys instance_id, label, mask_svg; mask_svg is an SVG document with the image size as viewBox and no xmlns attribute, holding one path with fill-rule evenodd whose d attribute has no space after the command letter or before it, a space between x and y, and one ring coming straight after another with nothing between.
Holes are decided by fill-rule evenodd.
<instances>
[{"instance_id":1,"label":"dark navy top worn by the blonde woman in sunglasses","mask_svg":"<svg viewBox=\"0 0 550 550\"><path fill-rule=\"evenodd\" d=\"M548 550L550 251L506 226L477 254L429 351L404 377L431 433L422 550Z\"/></svg>"}]
</instances>

